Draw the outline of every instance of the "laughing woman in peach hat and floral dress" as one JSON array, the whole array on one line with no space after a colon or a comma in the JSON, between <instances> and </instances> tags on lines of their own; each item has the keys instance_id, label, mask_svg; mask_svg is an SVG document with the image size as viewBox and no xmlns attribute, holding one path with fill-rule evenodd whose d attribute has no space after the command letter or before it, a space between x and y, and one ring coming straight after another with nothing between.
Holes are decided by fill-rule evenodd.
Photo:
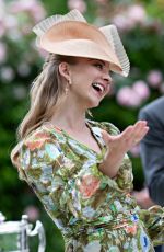
<instances>
[{"instance_id":1,"label":"laughing woman in peach hat and floral dress","mask_svg":"<svg viewBox=\"0 0 164 252\"><path fill-rule=\"evenodd\" d=\"M32 87L31 108L11 154L21 179L61 230L67 252L154 251L164 210L137 206L126 154L147 134L147 122L120 134L109 123L85 117L109 92L109 71L129 72L116 28L90 25L73 10L34 31L49 56Z\"/></svg>"}]
</instances>

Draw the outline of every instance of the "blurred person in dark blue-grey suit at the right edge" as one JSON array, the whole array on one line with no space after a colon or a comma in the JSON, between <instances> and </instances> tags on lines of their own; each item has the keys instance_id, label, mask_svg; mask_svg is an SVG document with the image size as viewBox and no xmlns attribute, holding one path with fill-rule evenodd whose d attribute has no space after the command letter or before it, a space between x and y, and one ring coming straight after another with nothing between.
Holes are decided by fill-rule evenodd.
<instances>
[{"instance_id":1,"label":"blurred person in dark blue-grey suit at the right edge","mask_svg":"<svg viewBox=\"0 0 164 252\"><path fill-rule=\"evenodd\" d=\"M154 202L164 206L164 96L145 105L140 111L139 118L145 119L150 127L149 133L140 142L148 188L136 193L134 196L140 205L144 205L145 202L153 205ZM144 191L147 191L145 194ZM155 248L155 251L164 252L164 245Z\"/></svg>"}]
</instances>

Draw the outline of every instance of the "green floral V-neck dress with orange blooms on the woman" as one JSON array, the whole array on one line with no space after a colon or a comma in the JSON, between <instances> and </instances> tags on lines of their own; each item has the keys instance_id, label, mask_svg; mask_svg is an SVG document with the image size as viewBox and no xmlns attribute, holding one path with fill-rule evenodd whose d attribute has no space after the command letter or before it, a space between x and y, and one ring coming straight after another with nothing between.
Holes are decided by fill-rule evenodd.
<instances>
[{"instance_id":1,"label":"green floral V-neck dress with orange blooms on the woman","mask_svg":"<svg viewBox=\"0 0 164 252\"><path fill-rule=\"evenodd\" d=\"M65 130L44 125L23 140L20 177L43 203L65 239L66 252L150 252L164 243L164 209L140 209L130 195L131 163L126 154L117 176L98 170L109 123L86 121L101 147L97 153Z\"/></svg>"}]
</instances>

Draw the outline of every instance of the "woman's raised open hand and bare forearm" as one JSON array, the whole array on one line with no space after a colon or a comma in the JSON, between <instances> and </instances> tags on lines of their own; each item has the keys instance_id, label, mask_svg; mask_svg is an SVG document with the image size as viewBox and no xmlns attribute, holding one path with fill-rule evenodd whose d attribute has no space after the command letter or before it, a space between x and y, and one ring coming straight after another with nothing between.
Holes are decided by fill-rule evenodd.
<instances>
[{"instance_id":1,"label":"woman's raised open hand and bare forearm","mask_svg":"<svg viewBox=\"0 0 164 252\"><path fill-rule=\"evenodd\" d=\"M149 127L145 121L138 121L117 136L110 136L103 130L102 135L107 147L107 152L103 163L99 165L99 170L109 177L115 177L125 153L137 145L145 136L148 130Z\"/></svg>"}]
</instances>

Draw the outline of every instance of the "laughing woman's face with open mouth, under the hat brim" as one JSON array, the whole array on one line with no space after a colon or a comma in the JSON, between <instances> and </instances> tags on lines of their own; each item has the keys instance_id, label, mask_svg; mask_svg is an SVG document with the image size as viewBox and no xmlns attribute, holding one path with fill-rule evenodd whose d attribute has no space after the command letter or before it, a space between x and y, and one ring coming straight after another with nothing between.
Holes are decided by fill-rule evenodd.
<instances>
[{"instance_id":1,"label":"laughing woman's face with open mouth, under the hat brim","mask_svg":"<svg viewBox=\"0 0 164 252\"><path fill-rule=\"evenodd\" d=\"M112 78L109 64L99 59L77 58L75 65L69 65L71 99L77 99L85 108L95 107L109 92Z\"/></svg>"}]
</instances>

